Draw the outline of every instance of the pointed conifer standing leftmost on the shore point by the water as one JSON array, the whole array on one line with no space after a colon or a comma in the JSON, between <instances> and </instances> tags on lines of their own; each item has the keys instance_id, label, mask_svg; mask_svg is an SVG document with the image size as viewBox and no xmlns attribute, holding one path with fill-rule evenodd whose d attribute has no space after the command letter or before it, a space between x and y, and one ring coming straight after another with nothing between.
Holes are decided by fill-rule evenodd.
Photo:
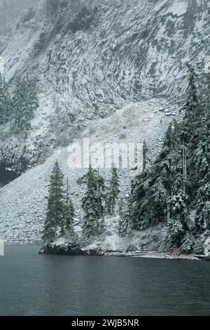
<instances>
[{"instance_id":1,"label":"pointed conifer standing leftmost on the shore point by the water","mask_svg":"<svg viewBox=\"0 0 210 330\"><path fill-rule=\"evenodd\" d=\"M64 232L64 176L59 169L58 161L53 166L50 176L48 207L43 230L43 240L57 237Z\"/></svg>"}]
</instances>

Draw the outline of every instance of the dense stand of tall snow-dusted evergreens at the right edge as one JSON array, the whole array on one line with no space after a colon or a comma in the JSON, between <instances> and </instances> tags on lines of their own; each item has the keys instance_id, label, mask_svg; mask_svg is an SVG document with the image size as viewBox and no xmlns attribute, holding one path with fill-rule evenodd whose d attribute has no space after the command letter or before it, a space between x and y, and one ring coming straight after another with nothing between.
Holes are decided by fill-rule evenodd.
<instances>
[{"instance_id":1,"label":"dense stand of tall snow-dusted evergreens at the right edge","mask_svg":"<svg viewBox=\"0 0 210 330\"><path fill-rule=\"evenodd\" d=\"M209 89L199 92L190 65L188 72L183 120L172 121L160 155L135 180L132 209L134 228L167 220L170 246L191 251L188 217L193 204L197 228L210 227L210 108Z\"/></svg>"}]
</instances>

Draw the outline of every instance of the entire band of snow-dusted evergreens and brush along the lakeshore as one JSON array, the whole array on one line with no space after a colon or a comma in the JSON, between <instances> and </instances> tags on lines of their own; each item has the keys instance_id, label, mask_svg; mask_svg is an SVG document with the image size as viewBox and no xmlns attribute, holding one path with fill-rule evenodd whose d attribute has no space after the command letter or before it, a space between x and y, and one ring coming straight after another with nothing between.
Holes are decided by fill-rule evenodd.
<instances>
[{"instance_id":1,"label":"entire band of snow-dusted evergreens and brush along the lakeshore","mask_svg":"<svg viewBox=\"0 0 210 330\"><path fill-rule=\"evenodd\" d=\"M83 196L80 204L82 218L76 218L68 178L64 185L64 174L59 162L55 162L48 189L43 253L104 256L106 251L111 251L111 255L116 253L114 251L123 250L158 251L154 241L162 242L159 251L174 251L174 255L169 252L162 255L139 252L138 256L193 258L203 253L209 255L210 86L208 77L203 78L200 86L197 72L188 64L188 87L181 119L176 121L174 118L169 124L162 150L149 166L146 164L147 147L144 143L143 171L136 178L130 178L123 198L115 164L112 164L111 180L106 183L106 178L90 162L87 173L77 181L83 186ZM106 217L112 221L113 216L118 216L118 223L108 230ZM165 232L161 235L159 231L151 237L152 228L160 224L165 224ZM137 238L137 244L132 244L134 232L146 229L149 229L151 245L146 242L148 235ZM109 241L114 240L109 248L94 244L100 238L104 242L107 235ZM130 242L129 249L115 244L123 244L126 239Z\"/></svg>"}]
</instances>

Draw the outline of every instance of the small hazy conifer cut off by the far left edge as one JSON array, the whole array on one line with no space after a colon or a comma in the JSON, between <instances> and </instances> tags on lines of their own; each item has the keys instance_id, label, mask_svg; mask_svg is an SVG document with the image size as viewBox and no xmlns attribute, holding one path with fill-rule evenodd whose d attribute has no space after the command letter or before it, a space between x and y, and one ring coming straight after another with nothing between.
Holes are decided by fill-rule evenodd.
<instances>
[{"instance_id":1,"label":"small hazy conifer cut off by the far left edge","mask_svg":"<svg viewBox=\"0 0 210 330\"><path fill-rule=\"evenodd\" d=\"M0 73L0 124L6 123L11 115L11 100L8 85Z\"/></svg>"}]
</instances>

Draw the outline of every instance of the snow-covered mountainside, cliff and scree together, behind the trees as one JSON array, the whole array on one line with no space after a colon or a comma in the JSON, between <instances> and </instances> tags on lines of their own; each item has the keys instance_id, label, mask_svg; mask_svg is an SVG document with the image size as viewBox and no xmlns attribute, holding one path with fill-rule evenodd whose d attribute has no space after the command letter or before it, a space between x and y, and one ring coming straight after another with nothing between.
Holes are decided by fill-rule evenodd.
<instances>
[{"instance_id":1,"label":"snow-covered mountainside, cliff and scree together, behind the trees","mask_svg":"<svg viewBox=\"0 0 210 330\"><path fill-rule=\"evenodd\" d=\"M11 136L9 126L0 127L0 174L27 168L0 190L1 238L28 242L41 237L55 159L72 178L80 204L75 183L79 173L67 169L65 147L73 140L146 138L151 154L158 152L186 88L185 62L201 64L208 55L208 4L57 0L51 11L41 1L21 16L10 37L1 39L0 55L11 85L18 76L36 78L40 107L27 140Z\"/></svg>"}]
</instances>

